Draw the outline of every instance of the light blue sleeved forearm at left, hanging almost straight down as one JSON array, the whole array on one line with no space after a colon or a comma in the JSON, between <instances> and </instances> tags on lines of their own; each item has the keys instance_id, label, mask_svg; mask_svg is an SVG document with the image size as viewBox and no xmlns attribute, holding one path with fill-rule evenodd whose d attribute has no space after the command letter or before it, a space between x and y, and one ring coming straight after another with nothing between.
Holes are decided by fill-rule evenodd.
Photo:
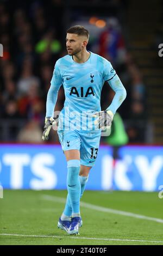
<instances>
[{"instance_id":1,"label":"light blue sleeved forearm at left, hanging almost straight down","mask_svg":"<svg viewBox=\"0 0 163 256\"><path fill-rule=\"evenodd\" d=\"M47 94L46 117L53 117L57 96L58 96L58 89L51 86Z\"/></svg>"}]
</instances>

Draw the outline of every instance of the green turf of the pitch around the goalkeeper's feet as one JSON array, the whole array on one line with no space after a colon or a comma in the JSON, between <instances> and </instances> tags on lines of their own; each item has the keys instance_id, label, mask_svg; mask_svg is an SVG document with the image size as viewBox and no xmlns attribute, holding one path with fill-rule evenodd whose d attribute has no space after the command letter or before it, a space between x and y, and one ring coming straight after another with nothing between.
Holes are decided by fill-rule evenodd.
<instances>
[{"instance_id":1,"label":"green turf of the pitch around the goalkeeper's feet","mask_svg":"<svg viewBox=\"0 0 163 256\"><path fill-rule=\"evenodd\" d=\"M66 198L66 191L4 191L4 198L0 199L0 234L12 235L0 235L1 245L163 245L163 223L84 207L81 207L80 235L68 236L57 228L64 203L46 200L43 194ZM158 198L158 193L85 191L82 202L163 219L163 199ZM80 239L82 237L148 242Z\"/></svg>"}]
</instances>

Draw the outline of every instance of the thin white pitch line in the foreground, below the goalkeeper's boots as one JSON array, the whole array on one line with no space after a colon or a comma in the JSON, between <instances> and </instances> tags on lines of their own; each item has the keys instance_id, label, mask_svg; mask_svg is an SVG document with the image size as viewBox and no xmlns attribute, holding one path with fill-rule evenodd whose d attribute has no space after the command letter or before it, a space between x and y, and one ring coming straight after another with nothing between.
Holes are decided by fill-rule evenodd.
<instances>
[{"instance_id":1,"label":"thin white pitch line in the foreground, below the goalkeeper's boots","mask_svg":"<svg viewBox=\"0 0 163 256\"><path fill-rule=\"evenodd\" d=\"M135 240L135 239L114 239L114 238L95 238L95 237L78 237L78 236L57 236L57 235L20 235L20 234L0 234L2 236L24 236L24 237L42 237L42 238L67 238L67 239L84 239L84 240L104 240L104 241L121 241L121 242L147 242L163 243L163 241L153 240Z\"/></svg>"}]
</instances>

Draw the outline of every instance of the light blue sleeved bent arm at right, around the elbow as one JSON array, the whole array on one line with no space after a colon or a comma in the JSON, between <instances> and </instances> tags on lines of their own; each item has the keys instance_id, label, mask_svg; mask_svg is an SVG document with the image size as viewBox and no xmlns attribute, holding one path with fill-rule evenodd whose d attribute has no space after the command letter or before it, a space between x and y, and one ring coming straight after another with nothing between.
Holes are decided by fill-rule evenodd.
<instances>
[{"instance_id":1,"label":"light blue sleeved bent arm at right, around the elbow","mask_svg":"<svg viewBox=\"0 0 163 256\"><path fill-rule=\"evenodd\" d=\"M115 77L109 81L109 85L114 90L115 96L107 110L109 109L115 114L118 107L120 107L124 99L126 99L127 93L118 75L115 75Z\"/></svg>"}]
</instances>

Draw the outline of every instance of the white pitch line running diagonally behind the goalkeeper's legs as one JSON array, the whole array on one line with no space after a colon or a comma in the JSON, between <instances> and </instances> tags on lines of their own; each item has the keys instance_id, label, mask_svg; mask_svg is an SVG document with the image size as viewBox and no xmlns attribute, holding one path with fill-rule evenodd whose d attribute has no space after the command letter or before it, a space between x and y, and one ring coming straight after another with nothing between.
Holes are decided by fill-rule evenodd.
<instances>
[{"instance_id":1,"label":"white pitch line running diagonally behind the goalkeeper's legs","mask_svg":"<svg viewBox=\"0 0 163 256\"><path fill-rule=\"evenodd\" d=\"M43 194L42 198L45 199L45 200L58 202L58 203L65 203L66 202L66 200L62 197L48 196L46 194ZM87 209L95 210L95 211L108 212L110 214L118 214L118 215L123 215L123 216L128 216L128 217L140 218L142 220L155 221L155 222L163 223L163 220L160 219L160 218L153 218L153 217L148 217L148 216L145 216L145 215L133 214L132 212L105 208L105 207L94 205L94 204L88 204L88 203L80 202L80 206L82 206L84 208L87 208Z\"/></svg>"}]
</instances>

